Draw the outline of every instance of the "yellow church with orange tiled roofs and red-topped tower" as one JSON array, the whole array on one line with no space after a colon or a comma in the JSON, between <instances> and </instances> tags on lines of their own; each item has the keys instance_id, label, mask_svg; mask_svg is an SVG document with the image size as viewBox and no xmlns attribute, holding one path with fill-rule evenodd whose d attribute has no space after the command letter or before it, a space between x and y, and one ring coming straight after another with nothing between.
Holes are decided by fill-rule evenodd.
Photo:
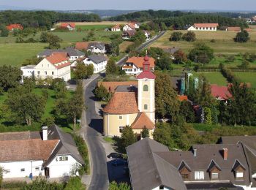
<instances>
[{"instance_id":1,"label":"yellow church with orange tiled roofs and red-topped tower","mask_svg":"<svg viewBox=\"0 0 256 190\"><path fill-rule=\"evenodd\" d=\"M143 63L143 72L137 76L135 85L119 83L108 104L103 109L103 130L105 136L121 136L125 126L140 135L148 129L150 137L155 128L155 79L151 72L149 58Z\"/></svg>"}]
</instances>

